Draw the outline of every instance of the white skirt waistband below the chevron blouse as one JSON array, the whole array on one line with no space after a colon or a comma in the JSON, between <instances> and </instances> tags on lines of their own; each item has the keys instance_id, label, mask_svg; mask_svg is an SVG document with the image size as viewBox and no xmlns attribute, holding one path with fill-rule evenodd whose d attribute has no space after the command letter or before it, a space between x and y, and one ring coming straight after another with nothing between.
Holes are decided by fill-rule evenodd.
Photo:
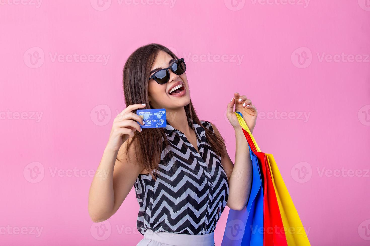
<instances>
[{"instance_id":1,"label":"white skirt waistband below the chevron blouse","mask_svg":"<svg viewBox=\"0 0 370 246\"><path fill-rule=\"evenodd\" d=\"M214 246L214 232L205 235L188 235L147 230L137 246Z\"/></svg>"}]
</instances>

